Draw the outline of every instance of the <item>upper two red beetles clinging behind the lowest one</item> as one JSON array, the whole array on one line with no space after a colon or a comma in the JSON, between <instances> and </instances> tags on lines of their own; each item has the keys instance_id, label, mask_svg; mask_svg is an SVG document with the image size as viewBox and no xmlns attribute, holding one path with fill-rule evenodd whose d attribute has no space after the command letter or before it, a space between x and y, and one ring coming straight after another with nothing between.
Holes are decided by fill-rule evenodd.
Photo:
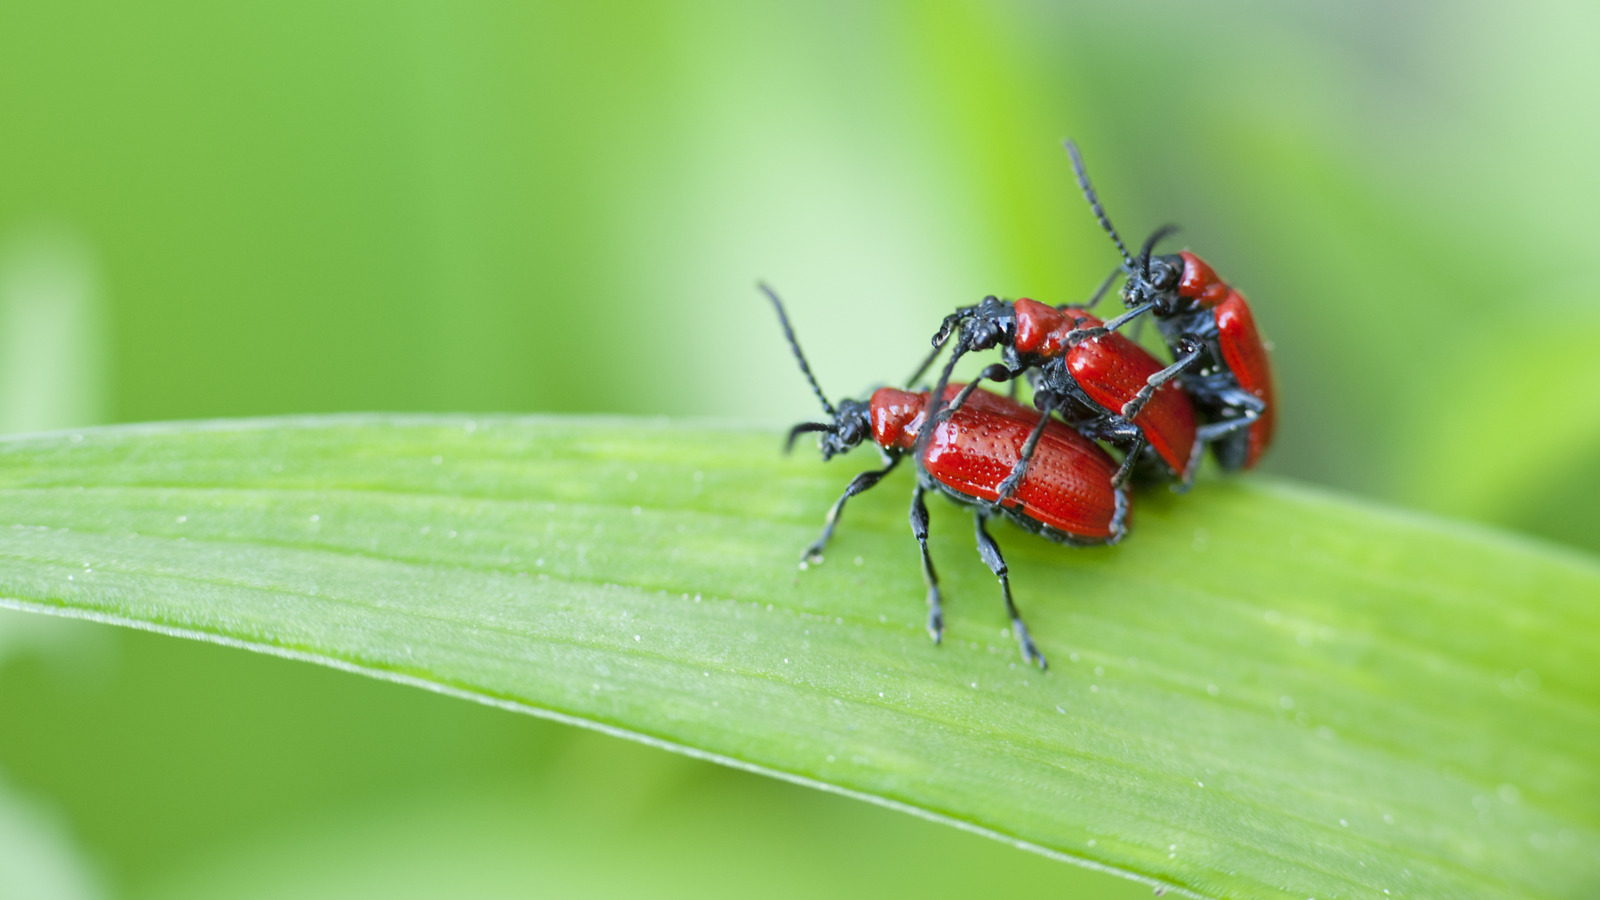
<instances>
[{"instance_id":1,"label":"upper two red beetles clinging behind the lowest one","mask_svg":"<svg viewBox=\"0 0 1600 900\"><path fill-rule=\"evenodd\" d=\"M1157 229L1138 259L1128 255L1072 141L1067 154L1090 210L1123 263L1082 307L1030 299L1013 304L990 296L947 315L934 346L955 336L955 349L941 384L963 354L998 346L1005 364L989 367L984 376L1005 381L1029 373L1042 413L1059 412L1091 437L1125 450L1118 477L1141 461L1146 447L1165 466L1163 474L1182 487L1206 445L1224 469L1253 468L1272 442L1275 407L1270 362L1250 304L1187 250L1152 258L1155 243L1174 231L1171 226ZM1126 277L1122 296L1128 311L1101 322L1090 309L1118 274ZM1146 314L1155 317L1171 349L1174 362L1168 367L1117 333ZM1197 408L1206 423L1195 424ZM1013 476L1019 477L1027 464L1024 455Z\"/></svg>"}]
</instances>

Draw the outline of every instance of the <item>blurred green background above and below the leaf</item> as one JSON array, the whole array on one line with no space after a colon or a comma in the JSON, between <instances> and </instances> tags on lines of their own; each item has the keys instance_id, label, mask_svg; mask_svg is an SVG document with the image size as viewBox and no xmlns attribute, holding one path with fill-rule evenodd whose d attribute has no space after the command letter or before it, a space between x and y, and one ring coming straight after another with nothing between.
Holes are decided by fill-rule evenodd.
<instances>
[{"instance_id":1,"label":"blurred green background above and below the leaf","mask_svg":"<svg viewBox=\"0 0 1600 900\"><path fill-rule=\"evenodd\" d=\"M1267 471L1600 551L1597 96L1582 0L3 3L0 429L794 421L754 280L835 396L984 293L1082 298L1115 258L1070 135L1130 240L1182 223L1253 299ZM1149 894L413 689L0 615L0 897L1002 889Z\"/></svg>"}]
</instances>

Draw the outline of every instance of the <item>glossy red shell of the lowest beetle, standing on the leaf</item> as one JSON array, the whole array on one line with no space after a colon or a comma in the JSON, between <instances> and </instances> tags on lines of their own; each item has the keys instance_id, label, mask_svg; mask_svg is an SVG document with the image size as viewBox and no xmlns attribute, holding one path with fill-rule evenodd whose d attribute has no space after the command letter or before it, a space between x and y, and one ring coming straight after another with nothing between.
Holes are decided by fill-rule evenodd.
<instances>
[{"instance_id":1,"label":"glossy red shell of the lowest beetle, standing on the leaf","mask_svg":"<svg viewBox=\"0 0 1600 900\"><path fill-rule=\"evenodd\" d=\"M946 400L960 389L960 384L946 388ZM922 429L926 400L928 394L880 388L870 402L874 440L910 448ZM1037 423L1038 410L974 391L934 429L922 458L923 469L955 493L995 500ZM1051 421L1027 476L1005 506L1077 538L1112 540L1118 536L1118 492L1110 485L1115 472L1117 463L1106 450L1066 423Z\"/></svg>"}]
</instances>

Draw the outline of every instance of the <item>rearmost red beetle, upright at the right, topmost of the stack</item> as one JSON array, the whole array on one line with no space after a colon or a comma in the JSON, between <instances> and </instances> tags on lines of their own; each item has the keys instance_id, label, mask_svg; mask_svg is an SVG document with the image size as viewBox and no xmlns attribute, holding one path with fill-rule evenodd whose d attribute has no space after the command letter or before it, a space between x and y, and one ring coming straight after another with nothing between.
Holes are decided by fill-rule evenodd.
<instances>
[{"instance_id":1,"label":"rearmost red beetle, upright at the right, topmost of the stack","mask_svg":"<svg viewBox=\"0 0 1600 900\"><path fill-rule=\"evenodd\" d=\"M1187 250L1150 256L1155 243L1174 231L1171 226L1157 229L1144 242L1139 259L1134 261L1106 218L1106 210L1090 186L1083 157L1072 141L1067 141L1067 155L1072 157L1072 170L1077 173L1083 197L1090 202L1090 210L1123 259L1112 277L1117 272L1126 275L1122 298L1128 312L1106 327L1118 327L1144 312L1154 314L1162 336L1178 357L1174 368L1181 372L1178 378L1184 392L1210 420L1200 428L1200 440L1213 445L1222 468L1253 468L1272 444L1277 424L1277 388L1267 346L1256 330L1250 304L1243 295L1216 277L1211 266ZM1110 279L1101 285L1094 299L1099 299L1109 283ZM1186 352L1194 346L1202 352Z\"/></svg>"}]
</instances>

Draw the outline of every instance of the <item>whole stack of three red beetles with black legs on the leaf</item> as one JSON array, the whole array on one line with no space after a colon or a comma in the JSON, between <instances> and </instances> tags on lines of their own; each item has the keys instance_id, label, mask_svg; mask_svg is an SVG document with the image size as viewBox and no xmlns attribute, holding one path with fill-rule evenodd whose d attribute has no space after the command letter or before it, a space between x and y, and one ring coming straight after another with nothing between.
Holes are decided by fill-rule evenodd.
<instances>
[{"instance_id":1,"label":"whole stack of three red beetles with black legs on the leaf","mask_svg":"<svg viewBox=\"0 0 1600 900\"><path fill-rule=\"evenodd\" d=\"M923 503L928 490L974 509L979 556L1000 580L1022 657L1040 668L1045 658L1016 610L1005 557L989 535L987 520L1010 519L1070 546L1115 543L1126 533L1125 484L1134 468L1144 464L1187 487L1208 445L1224 469L1253 468L1272 440L1277 412L1266 344L1243 296L1189 251L1152 256L1155 243L1171 234L1171 227L1157 229L1134 259L1106 216L1077 146L1067 141L1066 147L1078 186L1117 245L1122 264L1082 307L1051 307L1032 299L1005 303L990 296L957 309L934 335L934 356L952 340L954 351L933 391L880 388L867 402L843 400L835 408L811 375L782 304L762 285L800 370L832 418L797 424L786 447L800 434L821 432L824 460L869 437L885 456L882 469L850 482L805 559L821 559L851 496L878 484L910 455L917 463L910 525L922 549L928 631L934 642L944 620L928 557ZM1118 274L1125 275L1122 298L1128 311L1102 322L1090 309ZM1157 320L1174 357L1171 365L1162 365L1118 333L1146 314ZM950 383L962 356L992 348L1002 349L1002 364L990 365L968 384ZM984 380L1021 376L1030 380L1037 408L978 389ZM1118 447L1122 463L1096 440Z\"/></svg>"}]
</instances>

